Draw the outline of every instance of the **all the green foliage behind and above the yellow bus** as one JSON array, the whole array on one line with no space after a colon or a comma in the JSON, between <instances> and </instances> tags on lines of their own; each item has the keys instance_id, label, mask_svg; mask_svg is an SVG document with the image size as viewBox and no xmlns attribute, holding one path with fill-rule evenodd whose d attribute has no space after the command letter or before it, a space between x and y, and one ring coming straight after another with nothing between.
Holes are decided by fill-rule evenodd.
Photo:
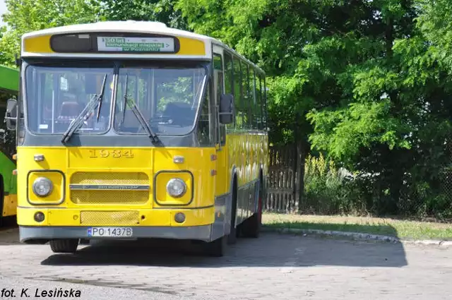
<instances>
[{"instance_id":1,"label":"all the green foliage behind and above the yellow bus","mask_svg":"<svg viewBox=\"0 0 452 300\"><path fill-rule=\"evenodd\" d=\"M0 64L13 64L25 32L95 20L157 20L216 37L266 71L270 143L302 143L326 155L328 167L307 175L309 197L334 199L322 211L450 210L442 183L451 165L451 1L6 4L11 29L0 30ZM330 160L360 175L345 183L328 171Z\"/></svg>"}]
</instances>

